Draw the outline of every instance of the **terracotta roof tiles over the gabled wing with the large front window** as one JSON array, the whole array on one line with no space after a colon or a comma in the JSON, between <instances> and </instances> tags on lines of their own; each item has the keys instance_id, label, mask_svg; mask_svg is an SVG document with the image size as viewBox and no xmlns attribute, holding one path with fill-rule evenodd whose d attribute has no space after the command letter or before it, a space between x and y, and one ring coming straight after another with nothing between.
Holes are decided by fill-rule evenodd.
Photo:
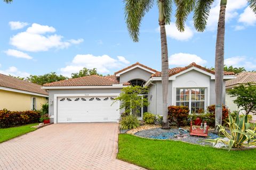
<instances>
[{"instance_id":1,"label":"terracotta roof tiles over the gabled wing with the large front window","mask_svg":"<svg viewBox=\"0 0 256 170\"><path fill-rule=\"evenodd\" d=\"M191 63L191 64L189 64L186 67L174 67L172 69L169 69L169 77L172 76L172 75L178 74L178 73L180 73L182 71L185 71L185 70L187 70L187 69L189 69L190 67L193 67L193 66L197 67L198 69L201 69L203 71L215 74L215 72L210 70L210 69L206 69L205 67L203 67L201 65L197 65L196 63ZM234 75L235 73L234 72L226 72L225 71L223 74L224 75ZM161 76L162 76L161 72L157 72L157 73L151 75L151 77L161 77Z\"/></svg>"}]
</instances>

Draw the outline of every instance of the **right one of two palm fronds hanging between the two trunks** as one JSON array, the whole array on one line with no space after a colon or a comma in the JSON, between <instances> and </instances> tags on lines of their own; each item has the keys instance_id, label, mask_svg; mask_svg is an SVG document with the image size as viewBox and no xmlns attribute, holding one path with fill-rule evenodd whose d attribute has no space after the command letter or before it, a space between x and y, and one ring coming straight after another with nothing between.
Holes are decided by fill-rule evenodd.
<instances>
[{"instance_id":1,"label":"right one of two palm fronds hanging between the two trunks","mask_svg":"<svg viewBox=\"0 0 256 170\"><path fill-rule=\"evenodd\" d=\"M194 10L194 26L197 31L203 32L205 30L207 19L210 14L211 5L214 0L197 0Z\"/></svg>"}]
</instances>

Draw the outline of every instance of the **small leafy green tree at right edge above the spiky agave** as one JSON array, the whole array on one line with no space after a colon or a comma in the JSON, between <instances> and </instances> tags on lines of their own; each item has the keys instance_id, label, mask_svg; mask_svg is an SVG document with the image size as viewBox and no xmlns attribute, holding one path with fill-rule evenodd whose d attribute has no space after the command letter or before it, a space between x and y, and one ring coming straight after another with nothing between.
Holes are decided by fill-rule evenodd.
<instances>
[{"instance_id":1,"label":"small leafy green tree at right edge above the spiky agave","mask_svg":"<svg viewBox=\"0 0 256 170\"><path fill-rule=\"evenodd\" d=\"M241 84L233 89L229 89L227 93L231 97L236 97L234 103L238 108L242 107L246 115L256 113L256 85L251 83Z\"/></svg>"}]
</instances>

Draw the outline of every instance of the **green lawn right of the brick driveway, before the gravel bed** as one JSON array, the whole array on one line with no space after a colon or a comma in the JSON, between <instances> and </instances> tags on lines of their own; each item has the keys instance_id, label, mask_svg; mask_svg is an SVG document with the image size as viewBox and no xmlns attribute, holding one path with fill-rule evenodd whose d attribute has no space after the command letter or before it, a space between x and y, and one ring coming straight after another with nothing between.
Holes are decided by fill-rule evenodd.
<instances>
[{"instance_id":1,"label":"green lawn right of the brick driveway, before the gravel bed","mask_svg":"<svg viewBox=\"0 0 256 170\"><path fill-rule=\"evenodd\" d=\"M230 151L119 134L118 159L147 169L256 169L256 149Z\"/></svg>"}]
</instances>

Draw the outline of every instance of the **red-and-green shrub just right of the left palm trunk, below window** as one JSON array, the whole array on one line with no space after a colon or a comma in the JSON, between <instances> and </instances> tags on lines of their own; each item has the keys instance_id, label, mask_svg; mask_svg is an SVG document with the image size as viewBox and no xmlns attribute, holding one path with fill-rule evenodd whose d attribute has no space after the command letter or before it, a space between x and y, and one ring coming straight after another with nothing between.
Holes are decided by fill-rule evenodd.
<instances>
[{"instance_id":1,"label":"red-and-green shrub just right of the left palm trunk, below window","mask_svg":"<svg viewBox=\"0 0 256 170\"><path fill-rule=\"evenodd\" d=\"M187 106L169 106L168 120L175 123L178 127L188 124L189 109Z\"/></svg>"}]
</instances>

